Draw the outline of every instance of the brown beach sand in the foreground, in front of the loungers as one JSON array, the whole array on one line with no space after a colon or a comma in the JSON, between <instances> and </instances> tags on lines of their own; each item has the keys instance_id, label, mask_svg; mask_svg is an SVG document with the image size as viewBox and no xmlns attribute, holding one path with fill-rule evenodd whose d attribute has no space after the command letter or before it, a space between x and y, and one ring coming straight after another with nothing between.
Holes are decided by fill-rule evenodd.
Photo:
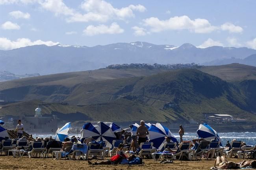
<instances>
[{"instance_id":1,"label":"brown beach sand in the foreground, in front of the loungers","mask_svg":"<svg viewBox=\"0 0 256 170\"><path fill-rule=\"evenodd\" d=\"M93 159L92 162L96 160ZM228 158L228 161L241 162L243 159ZM153 159L143 159L145 164L142 165L89 165L87 161L69 161L69 160L52 160L51 158L28 158L28 157L12 157L0 156L0 169L54 169L54 170L210 170L214 164L214 160L200 161L174 161L172 164L160 164Z\"/></svg>"}]
</instances>

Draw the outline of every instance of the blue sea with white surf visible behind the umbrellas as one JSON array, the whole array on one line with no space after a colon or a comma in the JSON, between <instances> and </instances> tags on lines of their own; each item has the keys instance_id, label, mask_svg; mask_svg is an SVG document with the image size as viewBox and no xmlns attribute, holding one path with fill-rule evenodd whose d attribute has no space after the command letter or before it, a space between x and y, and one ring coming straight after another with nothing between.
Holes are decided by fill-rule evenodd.
<instances>
[{"instance_id":1,"label":"blue sea with white surf visible behind the umbrellas","mask_svg":"<svg viewBox=\"0 0 256 170\"><path fill-rule=\"evenodd\" d=\"M77 136L77 134L70 134L69 136ZM180 141L180 136L178 133L173 133L174 137L177 138L178 141ZM222 144L225 146L226 142L229 140L236 139L236 140L242 140L245 142L247 145L256 145L256 133L255 132L243 132L243 133L238 133L238 132L231 132L231 133L218 133L219 137L221 138ZM47 134L47 135L40 135L40 134L33 134L33 137L54 137L55 134ZM81 136L81 134L78 134L78 136ZM183 140L192 140L198 138L197 133L185 133L183 136Z\"/></svg>"}]
</instances>

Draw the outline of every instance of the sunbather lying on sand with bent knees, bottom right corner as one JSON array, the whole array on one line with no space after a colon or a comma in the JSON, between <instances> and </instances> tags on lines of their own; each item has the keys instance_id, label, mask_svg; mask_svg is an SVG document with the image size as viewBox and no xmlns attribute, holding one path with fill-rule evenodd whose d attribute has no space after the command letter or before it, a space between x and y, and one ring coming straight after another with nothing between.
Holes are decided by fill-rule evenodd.
<instances>
[{"instance_id":1,"label":"sunbather lying on sand with bent knees, bottom right corner","mask_svg":"<svg viewBox=\"0 0 256 170\"><path fill-rule=\"evenodd\" d=\"M239 169L246 168L247 166L251 166L252 168L256 168L256 161L243 161L241 163L234 163L228 161L224 156L217 157L214 161L214 168L218 169Z\"/></svg>"}]
</instances>

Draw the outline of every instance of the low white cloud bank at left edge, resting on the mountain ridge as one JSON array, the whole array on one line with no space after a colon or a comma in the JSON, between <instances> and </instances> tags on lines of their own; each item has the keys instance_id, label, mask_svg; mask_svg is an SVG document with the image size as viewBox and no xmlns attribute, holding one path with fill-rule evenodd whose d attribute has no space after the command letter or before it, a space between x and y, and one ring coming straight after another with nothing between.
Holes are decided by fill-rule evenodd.
<instances>
[{"instance_id":1,"label":"low white cloud bank at left edge, resting on the mountain ridge","mask_svg":"<svg viewBox=\"0 0 256 170\"><path fill-rule=\"evenodd\" d=\"M53 46L53 45L59 44L59 42L42 41L42 40L31 41L30 39L26 39L26 38L20 38L20 39L17 39L16 41L11 41L5 37L0 37L0 50L11 50L14 48L40 45L40 44Z\"/></svg>"}]
</instances>

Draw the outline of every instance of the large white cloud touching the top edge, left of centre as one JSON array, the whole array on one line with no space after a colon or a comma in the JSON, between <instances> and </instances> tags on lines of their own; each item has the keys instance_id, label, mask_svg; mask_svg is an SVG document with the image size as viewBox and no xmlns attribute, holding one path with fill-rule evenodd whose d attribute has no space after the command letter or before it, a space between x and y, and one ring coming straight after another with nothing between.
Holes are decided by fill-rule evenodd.
<instances>
[{"instance_id":1,"label":"large white cloud touching the top edge, left of centre","mask_svg":"<svg viewBox=\"0 0 256 170\"><path fill-rule=\"evenodd\" d=\"M85 0L81 4L81 8L86 11L85 14L74 13L67 21L68 22L107 22L108 20L135 17L133 11L144 12L146 8L142 5L130 5L120 9L114 8L110 3L105 0Z\"/></svg>"}]
</instances>

